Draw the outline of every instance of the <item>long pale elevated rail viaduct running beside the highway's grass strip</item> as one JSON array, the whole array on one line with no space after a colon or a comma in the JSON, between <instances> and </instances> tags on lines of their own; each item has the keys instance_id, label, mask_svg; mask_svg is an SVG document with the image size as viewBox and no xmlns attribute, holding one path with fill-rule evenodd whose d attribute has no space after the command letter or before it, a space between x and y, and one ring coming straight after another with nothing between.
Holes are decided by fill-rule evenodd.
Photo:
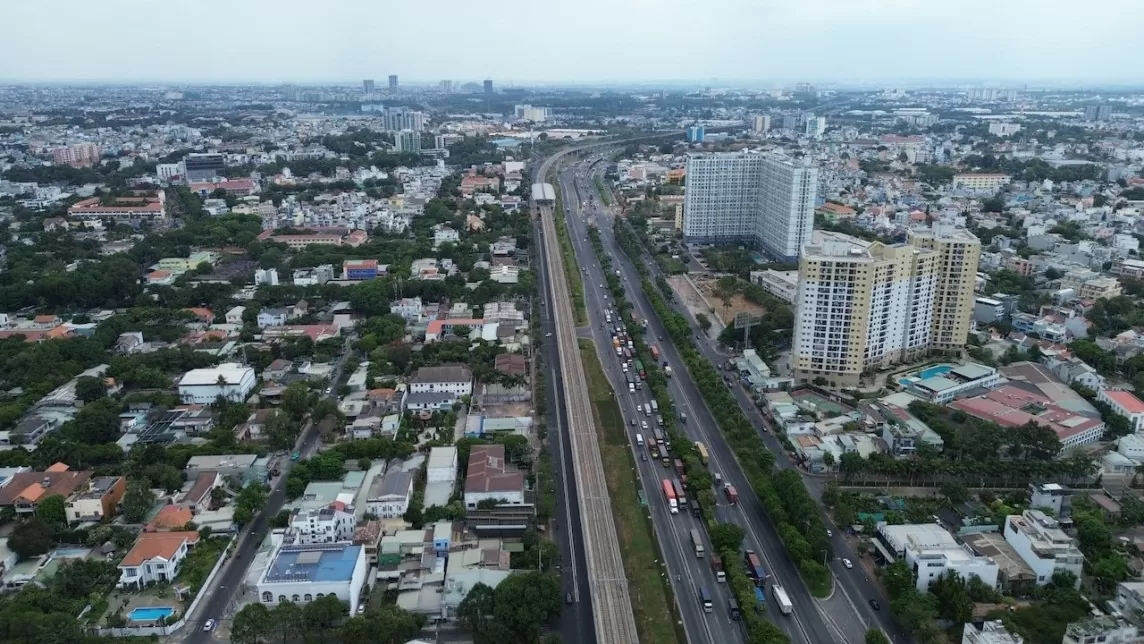
<instances>
[{"instance_id":1,"label":"long pale elevated rail viaduct running beside the highway's grass strip","mask_svg":"<svg viewBox=\"0 0 1144 644\"><path fill-rule=\"evenodd\" d=\"M541 181L549 168L566 153L549 157L541 164ZM599 445L588 400L583 365L580 363L572 313L572 297L564 272L564 257L556 234L554 207L534 204L542 230L547 280L550 289L553 337L559 353L559 372L567 412L561 430L567 437L575 476L577 502L581 522L581 550L588 575L591 614L596 639L607 644L636 644L635 617L628 594L628 580L612 520L611 500L599 458ZM573 268L574 270L574 268ZM583 597L575 597L582 601Z\"/></svg>"}]
</instances>

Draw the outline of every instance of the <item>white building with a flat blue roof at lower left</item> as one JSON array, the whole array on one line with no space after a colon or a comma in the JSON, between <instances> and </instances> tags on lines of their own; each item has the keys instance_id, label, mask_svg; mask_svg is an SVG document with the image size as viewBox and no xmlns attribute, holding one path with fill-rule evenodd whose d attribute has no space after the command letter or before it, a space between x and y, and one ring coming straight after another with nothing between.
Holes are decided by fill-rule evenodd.
<instances>
[{"instance_id":1,"label":"white building with a flat blue roof at lower left","mask_svg":"<svg viewBox=\"0 0 1144 644\"><path fill-rule=\"evenodd\" d=\"M283 544L255 585L265 605L305 604L333 595L356 610L370 564L365 547L352 543Z\"/></svg>"}]
</instances>

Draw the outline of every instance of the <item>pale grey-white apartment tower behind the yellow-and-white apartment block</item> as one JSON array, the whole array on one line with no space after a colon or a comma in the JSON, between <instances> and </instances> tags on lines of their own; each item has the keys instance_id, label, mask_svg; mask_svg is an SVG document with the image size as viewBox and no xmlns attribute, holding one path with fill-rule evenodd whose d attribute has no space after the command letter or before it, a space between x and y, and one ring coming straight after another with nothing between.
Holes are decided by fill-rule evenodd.
<instances>
[{"instance_id":1,"label":"pale grey-white apartment tower behind the yellow-and-white apartment block","mask_svg":"<svg viewBox=\"0 0 1144 644\"><path fill-rule=\"evenodd\" d=\"M818 168L771 154L690 154L683 202L689 244L749 244L785 262L815 224Z\"/></svg>"}]
</instances>

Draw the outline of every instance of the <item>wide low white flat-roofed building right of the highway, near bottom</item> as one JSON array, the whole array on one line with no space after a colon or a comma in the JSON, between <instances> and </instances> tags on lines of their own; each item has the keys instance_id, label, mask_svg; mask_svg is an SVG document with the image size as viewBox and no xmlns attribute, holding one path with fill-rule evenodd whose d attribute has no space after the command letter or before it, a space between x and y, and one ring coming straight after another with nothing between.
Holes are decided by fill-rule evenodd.
<instances>
[{"instance_id":1,"label":"wide low white flat-roofed building right of the highway, near bottom","mask_svg":"<svg viewBox=\"0 0 1144 644\"><path fill-rule=\"evenodd\" d=\"M958 543L953 535L935 523L913 525L877 525L877 547L893 559L904 559L914 572L917 590L925 593L947 571L962 579L980 578L990 588L998 585L998 564Z\"/></svg>"}]
</instances>

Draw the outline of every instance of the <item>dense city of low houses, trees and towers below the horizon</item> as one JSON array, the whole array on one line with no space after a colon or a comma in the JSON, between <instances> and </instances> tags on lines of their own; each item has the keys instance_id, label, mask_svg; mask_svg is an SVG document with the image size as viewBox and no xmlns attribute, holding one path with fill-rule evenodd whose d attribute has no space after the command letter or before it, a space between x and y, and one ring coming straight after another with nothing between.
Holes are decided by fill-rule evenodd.
<instances>
[{"instance_id":1,"label":"dense city of low houses, trees and towers below the horizon","mask_svg":"<svg viewBox=\"0 0 1144 644\"><path fill-rule=\"evenodd\" d=\"M0 86L0 641L1144 641L1144 93Z\"/></svg>"}]
</instances>

